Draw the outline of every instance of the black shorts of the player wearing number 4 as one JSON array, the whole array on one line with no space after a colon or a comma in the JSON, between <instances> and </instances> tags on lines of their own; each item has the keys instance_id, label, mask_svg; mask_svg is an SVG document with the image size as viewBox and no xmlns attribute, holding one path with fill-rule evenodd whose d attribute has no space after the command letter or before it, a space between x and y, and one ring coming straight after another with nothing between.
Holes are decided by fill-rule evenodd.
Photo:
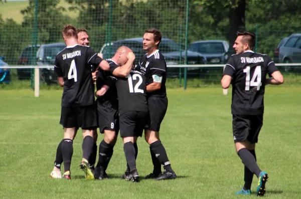
<instances>
[{"instance_id":1,"label":"black shorts of the player wearing number 4","mask_svg":"<svg viewBox=\"0 0 301 199\"><path fill-rule=\"evenodd\" d=\"M64 128L95 129L97 127L95 105L81 107L62 106L60 124Z\"/></svg>"}]
</instances>

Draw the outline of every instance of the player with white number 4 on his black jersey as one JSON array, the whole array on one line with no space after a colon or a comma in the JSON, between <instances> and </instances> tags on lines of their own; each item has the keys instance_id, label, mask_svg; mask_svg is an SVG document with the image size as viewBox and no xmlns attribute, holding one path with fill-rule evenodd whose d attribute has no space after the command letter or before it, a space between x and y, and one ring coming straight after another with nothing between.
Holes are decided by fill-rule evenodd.
<instances>
[{"instance_id":1,"label":"player with white number 4 on his black jersey","mask_svg":"<svg viewBox=\"0 0 301 199\"><path fill-rule=\"evenodd\" d=\"M97 126L94 103L94 85L91 65L109 70L109 64L97 56L90 47L77 42L75 27L66 25L62 36L67 47L57 54L54 71L59 84L64 87L60 124L64 127L62 153L64 178L70 179L70 164L73 154L72 141L79 127L83 131L83 159L80 168L87 179L94 179L88 167L88 159L93 146L92 129Z\"/></svg>"}]
</instances>

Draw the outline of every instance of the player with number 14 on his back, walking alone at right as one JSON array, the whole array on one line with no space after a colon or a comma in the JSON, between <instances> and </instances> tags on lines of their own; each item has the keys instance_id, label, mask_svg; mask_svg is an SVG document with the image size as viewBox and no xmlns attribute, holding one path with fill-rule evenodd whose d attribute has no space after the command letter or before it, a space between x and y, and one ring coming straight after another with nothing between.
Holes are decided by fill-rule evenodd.
<instances>
[{"instance_id":1,"label":"player with number 14 on his back, walking alone at right","mask_svg":"<svg viewBox=\"0 0 301 199\"><path fill-rule=\"evenodd\" d=\"M267 56L254 53L255 34L239 31L234 43L236 55L227 62L221 80L224 89L232 84L233 138L244 164L243 188L237 194L251 194L253 174L258 177L256 194L263 196L268 175L256 163L255 143L263 124L263 97L266 84L279 85L283 76ZM266 79L266 75L271 78Z\"/></svg>"}]
</instances>

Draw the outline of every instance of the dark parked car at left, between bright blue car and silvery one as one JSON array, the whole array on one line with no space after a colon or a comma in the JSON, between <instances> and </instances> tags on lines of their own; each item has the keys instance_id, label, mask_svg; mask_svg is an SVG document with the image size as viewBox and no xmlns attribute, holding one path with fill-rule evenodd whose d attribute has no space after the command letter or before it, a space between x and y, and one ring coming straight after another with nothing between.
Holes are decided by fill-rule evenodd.
<instances>
[{"instance_id":1,"label":"dark parked car at left, between bright blue car and silvery one","mask_svg":"<svg viewBox=\"0 0 301 199\"><path fill-rule=\"evenodd\" d=\"M40 45L37 45L37 51L40 48ZM32 64L36 64L36 56L33 56L34 47L27 46L21 53L21 56L18 60L18 65L29 66ZM33 60L34 57L34 60ZM18 68L17 75L19 79L29 79L31 76L31 69L29 68Z\"/></svg>"}]
</instances>

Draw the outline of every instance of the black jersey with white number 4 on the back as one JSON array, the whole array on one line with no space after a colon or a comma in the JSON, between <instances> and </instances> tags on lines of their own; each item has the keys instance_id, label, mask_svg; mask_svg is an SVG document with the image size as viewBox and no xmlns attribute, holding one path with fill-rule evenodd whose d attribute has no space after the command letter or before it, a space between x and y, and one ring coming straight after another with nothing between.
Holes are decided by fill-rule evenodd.
<instances>
[{"instance_id":1,"label":"black jersey with white number 4 on the back","mask_svg":"<svg viewBox=\"0 0 301 199\"><path fill-rule=\"evenodd\" d=\"M94 84L91 65L102 59L89 46L66 47L55 58L54 72L64 78L62 106L78 107L94 102Z\"/></svg>"}]
</instances>

